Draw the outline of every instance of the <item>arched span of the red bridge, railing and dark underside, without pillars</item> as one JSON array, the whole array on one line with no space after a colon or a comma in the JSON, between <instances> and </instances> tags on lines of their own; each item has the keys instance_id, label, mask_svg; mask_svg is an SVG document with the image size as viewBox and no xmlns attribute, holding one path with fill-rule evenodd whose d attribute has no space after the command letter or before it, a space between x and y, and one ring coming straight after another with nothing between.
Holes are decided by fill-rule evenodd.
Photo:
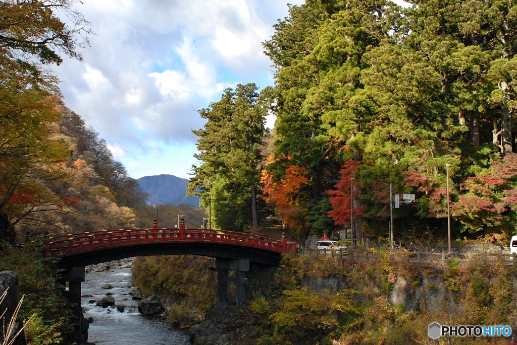
<instances>
[{"instance_id":1,"label":"arched span of the red bridge, railing and dark underside, without pillars","mask_svg":"<svg viewBox=\"0 0 517 345\"><path fill-rule=\"evenodd\" d=\"M276 266L280 254L294 251L296 242L248 233L215 229L132 228L71 234L44 239L47 255L59 256L69 269L133 256L203 255L223 259L247 259Z\"/></svg>"}]
</instances>

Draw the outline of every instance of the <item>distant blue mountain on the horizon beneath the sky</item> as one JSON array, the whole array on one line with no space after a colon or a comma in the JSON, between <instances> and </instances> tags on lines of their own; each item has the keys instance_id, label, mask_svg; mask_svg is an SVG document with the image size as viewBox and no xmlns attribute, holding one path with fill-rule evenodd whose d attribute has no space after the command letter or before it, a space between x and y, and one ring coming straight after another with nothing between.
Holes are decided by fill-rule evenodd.
<instances>
[{"instance_id":1,"label":"distant blue mountain on the horizon beneath the sky","mask_svg":"<svg viewBox=\"0 0 517 345\"><path fill-rule=\"evenodd\" d=\"M199 206L199 199L194 196L187 198L187 182L186 178L174 175L156 175L144 176L137 179L140 187L150 196L147 198L147 204L173 204L180 203Z\"/></svg>"}]
</instances>

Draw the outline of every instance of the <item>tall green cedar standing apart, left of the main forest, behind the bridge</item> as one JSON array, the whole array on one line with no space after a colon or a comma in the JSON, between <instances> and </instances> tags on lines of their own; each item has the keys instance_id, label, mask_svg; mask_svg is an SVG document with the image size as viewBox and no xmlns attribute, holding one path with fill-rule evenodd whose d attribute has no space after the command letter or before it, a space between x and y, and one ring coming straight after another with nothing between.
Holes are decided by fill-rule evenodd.
<instances>
[{"instance_id":1,"label":"tall green cedar standing apart, left of the main forest, behind the bridge","mask_svg":"<svg viewBox=\"0 0 517 345\"><path fill-rule=\"evenodd\" d=\"M257 227L259 146L270 88L260 95L257 90L255 84L226 89L221 101L200 110L208 120L204 129L192 131L199 137L200 153L195 157L201 165L193 166L188 193L201 196L201 204L211 209L212 224L218 228Z\"/></svg>"}]
</instances>

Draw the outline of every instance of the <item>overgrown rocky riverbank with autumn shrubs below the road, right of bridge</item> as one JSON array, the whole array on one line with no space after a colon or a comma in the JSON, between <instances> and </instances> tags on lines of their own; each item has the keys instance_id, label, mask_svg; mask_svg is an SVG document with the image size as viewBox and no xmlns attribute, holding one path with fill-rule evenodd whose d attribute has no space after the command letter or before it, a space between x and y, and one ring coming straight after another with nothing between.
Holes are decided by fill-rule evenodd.
<instances>
[{"instance_id":1,"label":"overgrown rocky riverbank with autumn shrubs below the road, right of bridge","mask_svg":"<svg viewBox=\"0 0 517 345\"><path fill-rule=\"evenodd\" d=\"M267 291L248 296L243 308L213 309L190 329L191 339L195 345L431 345L432 322L517 330L517 269L502 258L469 265L455 258L435 267L408 262L405 251L369 251L368 259L286 255ZM326 289L317 293L318 286ZM515 339L446 340L508 345Z\"/></svg>"}]
</instances>

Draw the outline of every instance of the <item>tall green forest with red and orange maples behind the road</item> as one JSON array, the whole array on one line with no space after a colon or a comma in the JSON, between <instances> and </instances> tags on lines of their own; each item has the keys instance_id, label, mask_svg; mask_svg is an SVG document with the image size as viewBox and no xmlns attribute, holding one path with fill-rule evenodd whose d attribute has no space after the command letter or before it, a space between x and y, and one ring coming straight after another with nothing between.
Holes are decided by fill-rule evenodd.
<instances>
[{"instance_id":1,"label":"tall green forest with red and orange maples behind the road","mask_svg":"<svg viewBox=\"0 0 517 345\"><path fill-rule=\"evenodd\" d=\"M351 228L397 241L515 232L517 6L512 0L307 0L263 42L275 86L200 110L192 195L228 227L273 207L298 239ZM264 116L275 114L272 133ZM352 195L351 195L352 194ZM402 199L402 198L401 198ZM214 202L212 201L212 206Z\"/></svg>"}]
</instances>

